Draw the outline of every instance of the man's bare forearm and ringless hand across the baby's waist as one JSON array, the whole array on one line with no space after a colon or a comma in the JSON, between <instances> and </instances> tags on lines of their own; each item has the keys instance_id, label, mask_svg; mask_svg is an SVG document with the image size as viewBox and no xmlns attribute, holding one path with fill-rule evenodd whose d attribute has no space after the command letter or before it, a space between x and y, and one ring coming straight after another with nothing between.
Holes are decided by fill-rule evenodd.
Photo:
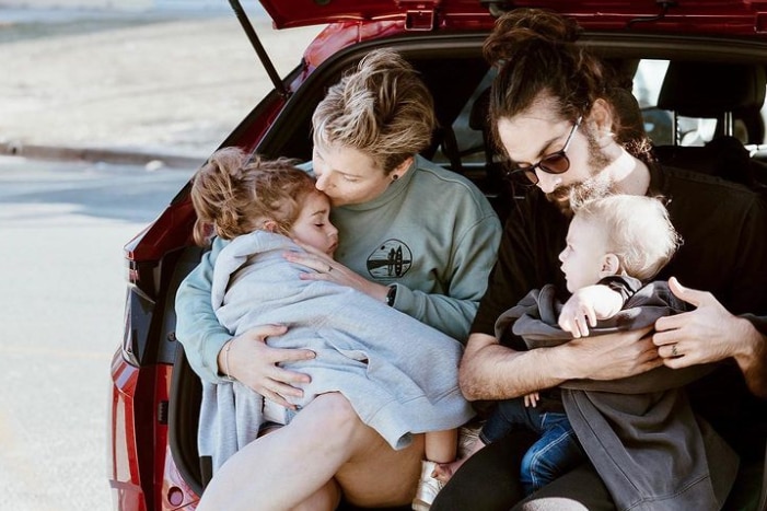
<instances>
[{"instance_id":1,"label":"man's bare forearm and ringless hand across the baby's waist","mask_svg":"<svg viewBox=\"0 0 767 511\"><path fill-rule=\"evenodd\" d=\"M567 380L617 380L663 364L650 328L583 337L554 348L516 351L492 336L472 334L460 368L467 399L505 399Z\"/></svg>"}]
</instances>

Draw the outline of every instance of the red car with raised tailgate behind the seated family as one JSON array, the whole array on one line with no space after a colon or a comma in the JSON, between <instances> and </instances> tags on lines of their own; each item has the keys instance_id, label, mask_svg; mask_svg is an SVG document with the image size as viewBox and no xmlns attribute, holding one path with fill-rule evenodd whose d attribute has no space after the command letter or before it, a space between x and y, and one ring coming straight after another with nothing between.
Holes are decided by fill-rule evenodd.
<instances>
[{"instance_id":1,"label":"red car with raised tailgate behind the seated family","mask_svg":"<svg viewBox=\"0 0 767 511\"><path fill-rule=\"evenodd\" d=\"M310 160L310 118L327 85L372 48L393 47L434 95L441 129L425 155L475 181L502 216L514 198L485 137L481 100L492 70L481 45L504 10L546 7L573 16L583 40L632 78L659 159L711 169L705 144L734 136L729 140L748 151L749 172L729 177L767 182L767 1L262 0L277 28L327 24L284 78L240 4L231 3L275 89L223 146ZM123 511L191 510L202 491L200 385L174 335L176 289L201 254L191 241L188 193L188 186L179 190L125 247L125 336L112 363L108 437L108 477L115 509ZM762 474L754 474L737 496L751 502L747 509L757 509L760 484Z\"/></svg>"}]
</instances>

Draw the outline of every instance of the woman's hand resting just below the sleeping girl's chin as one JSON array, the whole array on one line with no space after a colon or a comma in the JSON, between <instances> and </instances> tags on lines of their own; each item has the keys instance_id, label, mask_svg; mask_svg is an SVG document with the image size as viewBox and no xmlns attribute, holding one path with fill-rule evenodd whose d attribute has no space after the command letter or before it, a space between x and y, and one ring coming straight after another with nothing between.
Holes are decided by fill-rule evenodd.
<instances>
[{"instance_id":1,"label":"woman's hand resting just below the sleeping girl's chin","mask_svg":"<svg viewBox=\"0 0 767 511\"><path fill-rule=\"evenodd\" d=\"M326 280L336 282L341 286L355 288L376 300L385 301L388 287L367 280L337 260L334 260L327 254L314 248L313 246L301 243L297 240L293 242L306 252L286 252L284 258L291 263L298 263L307 268L316 270L315 272L301 274L302 280Z\"/></svg>"}]
</instances>

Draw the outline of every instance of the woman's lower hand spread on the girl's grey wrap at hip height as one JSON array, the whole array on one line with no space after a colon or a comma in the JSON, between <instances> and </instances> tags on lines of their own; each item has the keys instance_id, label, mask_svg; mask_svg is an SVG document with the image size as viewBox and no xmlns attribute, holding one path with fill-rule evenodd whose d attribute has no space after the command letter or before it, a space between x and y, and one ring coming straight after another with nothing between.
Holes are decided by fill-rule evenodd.
<instances>
[{"instance_id":1,"label":"woman's lower hand spread on the girl's grey wrap at hip height","mask_svg":"<svg viewBox=\"0 0 767 511\"><path fill-rule=\"evenodd\" d=\"M229 372L243 385L253 388L264 397L294 409L287 397L302 397L303 391L293 385L309 383L306 374L282 369L279 364L310 360L314 351L307 349L280 349L267 346L267 337L280 336L288 332L286 326L264 325L255 327L233 338L219 352L219 368Z\"/></svg>"}]
</instances>

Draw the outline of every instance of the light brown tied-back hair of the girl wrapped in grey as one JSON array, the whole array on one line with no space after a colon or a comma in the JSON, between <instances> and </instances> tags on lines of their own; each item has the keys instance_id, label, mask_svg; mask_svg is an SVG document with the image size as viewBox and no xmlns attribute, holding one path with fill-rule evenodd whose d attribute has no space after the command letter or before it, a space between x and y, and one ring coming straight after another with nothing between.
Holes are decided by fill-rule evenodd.
<instances>
[{"instance_id":1,"label":"light brown tied-back hair of the girl wrapped in grey","mask_svg":"<svg viewBox=\"0 0 767 511\"><path fill-rule=\"evenodd\" d=\"M314 183L293 160L265 160L239 148L219 149L193 177L195 242L206 246L212 234L232 240L263 229L267 220L287 234L303 199L318 193Z\"/></svg>"}]
</instances>

